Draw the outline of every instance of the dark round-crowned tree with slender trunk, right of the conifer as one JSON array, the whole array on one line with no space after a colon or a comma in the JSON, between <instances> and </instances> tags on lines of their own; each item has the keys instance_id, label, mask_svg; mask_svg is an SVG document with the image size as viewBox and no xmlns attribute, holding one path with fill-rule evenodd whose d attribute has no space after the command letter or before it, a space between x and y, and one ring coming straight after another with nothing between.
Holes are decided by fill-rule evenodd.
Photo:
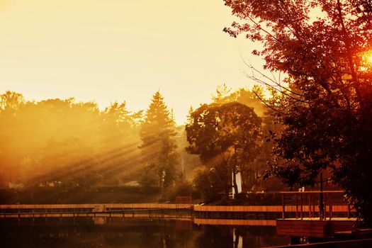
<instances>
[{"instance_id":1,"label":"dark round-crowned tree with slender trunk, right of the conifer","mask_svg":"<svg viewBox=\"0 0 372 248\"><path fill-rule=\"evenodd\" d=\"M223 105L204 104L191 114L186 125L186 149L199 154L201 161L215 168L225 183L228 194L230 175L237 191L236 174L252 162L259 150L257 140L261 133L261 118L241 103Z\"/></svg>"}]
</instances>

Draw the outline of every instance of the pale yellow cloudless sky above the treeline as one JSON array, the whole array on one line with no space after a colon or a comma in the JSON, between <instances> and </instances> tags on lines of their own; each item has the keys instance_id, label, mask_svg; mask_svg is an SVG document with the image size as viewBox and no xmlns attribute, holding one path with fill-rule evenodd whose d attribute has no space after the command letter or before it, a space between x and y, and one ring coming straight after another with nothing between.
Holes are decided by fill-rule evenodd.
<instances>
[{"instance_id":1,"label":"pale yellow cloudless sky above the treeline","mask_svg":"<svg viewBox=\"0 0 372 248\"><path fill-rule=\"evenodd\" d=\"M146 109L160 90L176 122L218 85L252 87L255 44L222 29L222 0L0 0L0 94Z\"/></svg>"}]
</instances>

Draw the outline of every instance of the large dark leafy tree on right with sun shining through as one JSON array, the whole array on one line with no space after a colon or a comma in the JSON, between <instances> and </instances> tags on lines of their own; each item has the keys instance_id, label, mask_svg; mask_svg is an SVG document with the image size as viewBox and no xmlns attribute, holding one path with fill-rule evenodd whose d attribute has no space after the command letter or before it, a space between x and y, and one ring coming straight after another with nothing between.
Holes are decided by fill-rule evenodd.
<instances>
[{"instance_id":1,"label":"large dark leafy tree on right with sun shining through","mask_svg":"<svg viewBox=\"0 0 372 248\"><path fill-rule=\"evenodd\" d=\"M372 4L366 0L225 0L240 23L225 32L264 44L254 50L283 81L271 101L283 130L275 135L271 174L314 184L330 171L359 220L372 225ZM261 77L262 78L262 77ZM260 80L260 79L257 79Z\"/></svg>"}]
</instances>

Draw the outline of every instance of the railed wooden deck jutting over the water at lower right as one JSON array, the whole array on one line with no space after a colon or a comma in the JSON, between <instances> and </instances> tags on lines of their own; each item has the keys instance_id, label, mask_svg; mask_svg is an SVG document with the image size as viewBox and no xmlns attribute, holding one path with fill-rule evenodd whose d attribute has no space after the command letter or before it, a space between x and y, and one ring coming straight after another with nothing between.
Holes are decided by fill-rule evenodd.
<instances>
[{"instance_id":1,"label":"railed wooden deck jutting over the water at lower right","mask_svg":"<svg viewBox=\"0 0 372 248\"><path fill-rule=\"evenodd\" d=\"M340 232L356 231L352 206L339 203L334 195L341 191L282 192L282 216L276 220L276 232L291 237L298 244L300 237L309 240L331 239ZM288 218L286 199L295 199L295 218ZM307 201L305 201L307 200Z\"/></svg>"}]
</instances>

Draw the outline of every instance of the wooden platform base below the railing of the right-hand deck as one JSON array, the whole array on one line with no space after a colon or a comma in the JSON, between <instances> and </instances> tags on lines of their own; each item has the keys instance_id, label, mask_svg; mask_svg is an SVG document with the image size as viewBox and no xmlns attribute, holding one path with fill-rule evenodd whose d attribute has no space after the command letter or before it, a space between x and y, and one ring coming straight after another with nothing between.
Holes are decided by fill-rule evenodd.
<instances>
[{"instance_id":1,"label":"wooden platform base below the railing of the right-hand deck","mask_svg":"<svg viewBox=\"0 0 372 248\"><path fill-rule=\"evenodd\" d=\"M356 230L355 218L287 218L276 220L276 232L281 236L290 237L332 237L335 232Z\"/></svg>"}]
</instances>

